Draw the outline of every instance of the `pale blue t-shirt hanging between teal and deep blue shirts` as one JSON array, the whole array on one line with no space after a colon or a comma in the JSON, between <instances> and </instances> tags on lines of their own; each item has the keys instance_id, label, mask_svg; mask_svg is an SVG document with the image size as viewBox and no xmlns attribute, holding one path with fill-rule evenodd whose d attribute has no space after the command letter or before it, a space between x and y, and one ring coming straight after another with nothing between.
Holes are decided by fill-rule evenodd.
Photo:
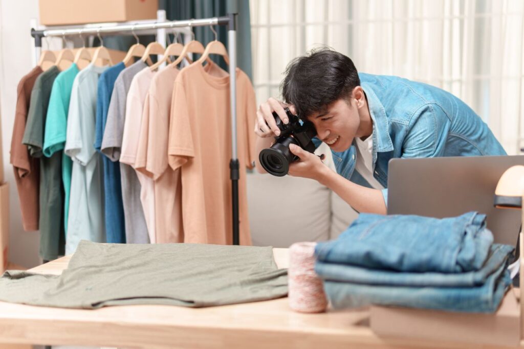
<instances>
[{"instance_id":1,"label":"pale blue t-shirt hanging between teal and deep blue shirts","mask_svg":"<svg viewBox=\"0 0 524 349\"><path fill-rule=\"evenodd\" d=\"M71 254L81 240L105 242L102 158L93 147L96 95L100 75L107 66L86 66L74 80L67 124L65 154L73 160L68 234L65 253Z\"/></svg>"}]
</instances>

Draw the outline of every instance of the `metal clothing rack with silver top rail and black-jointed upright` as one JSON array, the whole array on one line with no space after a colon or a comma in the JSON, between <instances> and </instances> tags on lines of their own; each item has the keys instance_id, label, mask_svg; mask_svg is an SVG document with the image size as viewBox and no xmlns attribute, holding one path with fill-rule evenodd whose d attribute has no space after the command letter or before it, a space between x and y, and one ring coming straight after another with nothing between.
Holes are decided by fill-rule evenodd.
<instances>
[{"instance_id":1,"label":"metal clothing rack with silver top rail and black-jointed upright","mask_svg":"<svg viewBox=\"0 0 524 349\"><path fill-rule=\"evenodd\" d=\"M81 36L81 35L107 35L127 34L134 32L144 32L151 30L162 30L172 28L184 27L205 27L205 26L227 26L228 29L228 55L229 55L229 73L230 73L230 103L231 103L231 161L230 161L230 177L232 184L232 208L233 208L233 244L239 244L239 221L238 221L238 179L239 179L239 163L237 158L237 132L236 132L236 12L235 6L231 6L231 13L227 16L204 18L204 19L189 19L189 20L175 20L175 21L137 21L134 23L115 24L115 25L101 25L88 24L84 26L75 27L52 27L42 30L31 29L31 36L35 38L35 48L37 55L42 47L43 37L65 37L65 36ZM163 19L165 19L165 12ZM165 31L164 31L165 36ZM163 44L163 43L162 43ZM37 57L38 59L38 57Z\"/></svg>"}]
</instances>

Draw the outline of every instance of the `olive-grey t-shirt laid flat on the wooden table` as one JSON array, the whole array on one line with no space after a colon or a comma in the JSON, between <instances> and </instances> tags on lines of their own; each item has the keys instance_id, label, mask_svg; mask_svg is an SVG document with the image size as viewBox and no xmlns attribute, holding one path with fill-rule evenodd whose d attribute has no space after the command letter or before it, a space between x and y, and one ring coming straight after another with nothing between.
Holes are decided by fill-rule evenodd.
<instances>
[{"instance_id":1,"label":"olive-grey t-shirt laid flat on the wooden table","mask_svg":"<svg viewBox=\"0 0 524 349\"><path fill-rule=\"evenodd\" d=\"M256 246L82 241L61 275L7 271L0 278L0 300L60 308L196 308L287 292L287 269L278 269L272 247Z\"/></svg>"}]
</instances>

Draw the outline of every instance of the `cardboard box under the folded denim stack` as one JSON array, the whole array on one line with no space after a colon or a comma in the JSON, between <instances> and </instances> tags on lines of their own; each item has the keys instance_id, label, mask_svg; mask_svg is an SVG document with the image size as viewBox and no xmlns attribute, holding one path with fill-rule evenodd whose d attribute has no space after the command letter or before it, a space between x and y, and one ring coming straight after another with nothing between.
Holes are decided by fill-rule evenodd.
<instances>
[{"instance_id":1,"label":"cardboard box under the folded denim stack","mask_svg":"<svg viewBox=\"0 0 524 349\"><path fill-rule=\"evenodd\" d=\"M515 292L518 289L507 292L494 314L373 306L371 329L378 336L391 339L518 347L520 306Z\"/></svg>"}]
</instances>

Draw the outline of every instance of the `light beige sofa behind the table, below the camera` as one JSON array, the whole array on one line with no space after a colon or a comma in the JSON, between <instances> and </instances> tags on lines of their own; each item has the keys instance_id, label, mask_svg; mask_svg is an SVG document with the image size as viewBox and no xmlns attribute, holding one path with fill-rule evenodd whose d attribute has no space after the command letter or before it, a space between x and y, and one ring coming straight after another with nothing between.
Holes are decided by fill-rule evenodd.
<instances>
[{"instance_id":1,"label":"light beige sofa behind the table, below the camera","mask_svg":"<svg viewBox=\"0 0 524 349\"><path fill-rule=\"evenodd\" d=\"M324 163L334 170L331 151L322 144ZM331 189L300 177L247 173L250 231L255 246L289 247L299 241L335 239L357 213Z\"/></svg>"}]
</instances>

